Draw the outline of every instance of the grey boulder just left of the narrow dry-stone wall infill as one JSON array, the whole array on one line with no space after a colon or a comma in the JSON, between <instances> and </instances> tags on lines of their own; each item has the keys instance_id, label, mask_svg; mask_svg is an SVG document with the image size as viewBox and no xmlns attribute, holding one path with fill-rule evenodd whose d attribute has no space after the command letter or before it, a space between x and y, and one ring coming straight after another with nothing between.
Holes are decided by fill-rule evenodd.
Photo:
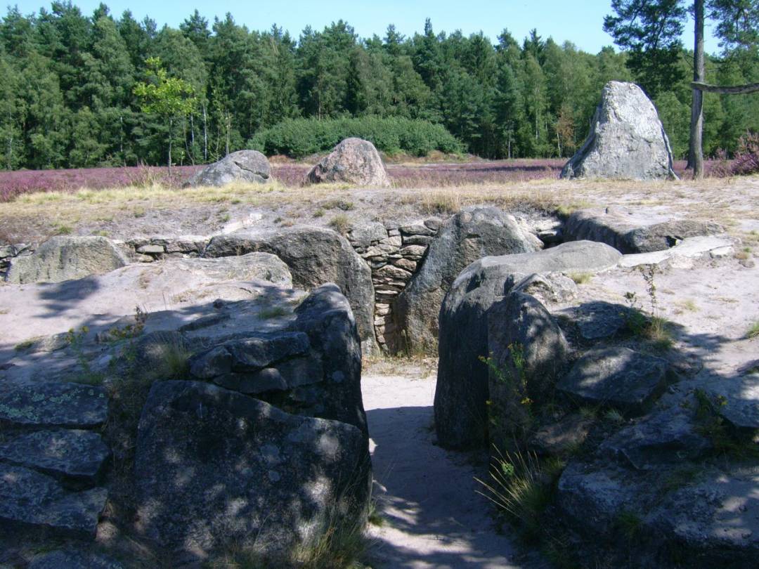
<instances>
[{"instance_id":1,"label":"grey boulder just left of the narrow dry-stone wall infill","mask_svg":"<svg viewBox=\"0 0 759 569\"><path fill-rule=\"evenodd\" d=\"M265 251L279 256L292 273L293 284L310 290L326 283L338 285L351 303L364 350L376 349L374 286L371 269L345 237L331 229L298 227L286 231L238 231L213 237L206 256L242 255Z\"/></svg>"}]
</instances>

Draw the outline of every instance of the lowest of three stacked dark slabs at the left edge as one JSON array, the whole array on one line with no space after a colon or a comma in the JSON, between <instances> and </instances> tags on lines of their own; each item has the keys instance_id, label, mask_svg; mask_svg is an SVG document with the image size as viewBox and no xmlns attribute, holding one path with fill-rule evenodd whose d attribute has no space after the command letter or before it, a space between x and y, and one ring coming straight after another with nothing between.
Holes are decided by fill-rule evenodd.
<instances>
[{"instance_id":1,"label":"lowest of three stacked dark slabs at the left edge","mask_svg":"<svg viewBox=\"0 0 759 569\"><path fill-rule=\"evenodd\" d=\"M93 538L108 491L69 492L57 480L0 463L0 522Z\"/></svg>"}]
</instances>

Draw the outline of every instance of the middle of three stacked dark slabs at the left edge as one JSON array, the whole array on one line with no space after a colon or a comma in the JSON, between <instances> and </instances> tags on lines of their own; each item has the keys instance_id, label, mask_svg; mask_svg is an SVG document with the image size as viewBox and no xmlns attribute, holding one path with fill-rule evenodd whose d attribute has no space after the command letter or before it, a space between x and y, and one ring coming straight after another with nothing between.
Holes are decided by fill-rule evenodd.
<instances>
[{"instance_id":1,"label":"middle of three stacked dark slabs at the left edge","mask_svg":"<svg viewBox=\"0 0 759 569\"><path fill-rule=\"evenodd\" d=\"M0 462L90 486L109 454L99 434L76 429L22 433L0 444Z\"/></svg>"}]
</instances>

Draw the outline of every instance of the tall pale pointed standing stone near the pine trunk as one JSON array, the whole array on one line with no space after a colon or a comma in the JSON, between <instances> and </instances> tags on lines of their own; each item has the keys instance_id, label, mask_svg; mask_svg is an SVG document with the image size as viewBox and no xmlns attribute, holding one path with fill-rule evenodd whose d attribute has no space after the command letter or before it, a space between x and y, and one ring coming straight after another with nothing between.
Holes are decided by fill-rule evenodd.
<instances>
[{"instance_id":1,"label":"tall pale pointed standing stone near the pine trunk","mask_svg":"<svg viewBox=\"0 0 759 569\"><path fill-rule=\"evenodd\" d=\"M676 178L657 109L639 86L606 83L591 132L562 178Z\"/></svg>"}]
</instances>

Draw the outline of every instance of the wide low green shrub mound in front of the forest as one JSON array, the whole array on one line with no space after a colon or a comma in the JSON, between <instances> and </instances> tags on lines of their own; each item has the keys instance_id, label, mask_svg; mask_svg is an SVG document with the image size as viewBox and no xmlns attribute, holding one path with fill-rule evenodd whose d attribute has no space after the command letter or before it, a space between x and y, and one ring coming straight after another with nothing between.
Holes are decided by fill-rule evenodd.
<instances>
[{"instance_id":1,"label":"wide low green shrub mound in front of the forest","mask_svg":"<svg viewBox=\"0 0 759 569\"><path fill-rule=\"evenodd\" d=\"M348 137L370 140L382 152L408 152L427 156L433 150L462 152L463 145L443 127L420 119L402 117L290 118L260 130L247 147L272 156L302 158L327 152Z\"/></svg>"}]
</instances>

